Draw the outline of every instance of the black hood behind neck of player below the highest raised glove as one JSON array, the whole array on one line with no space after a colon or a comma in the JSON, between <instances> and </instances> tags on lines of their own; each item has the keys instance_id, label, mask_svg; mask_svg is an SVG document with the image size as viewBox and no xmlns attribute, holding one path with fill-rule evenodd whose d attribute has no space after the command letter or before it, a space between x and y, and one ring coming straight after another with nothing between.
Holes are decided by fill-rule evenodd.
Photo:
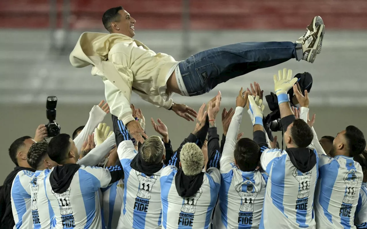
<instances>
[{"instance_id":1,"label":"black hood behind neck of player below the highest raised glove","mask_svg":"<svg viewBox=\"0 0 367 229\"><path fill-rule=\"evenodd\" d=\"M316 154L309 148L286 149L292 164L302 173L310 171L316 165Z\"/></svg>"}]
</instances>

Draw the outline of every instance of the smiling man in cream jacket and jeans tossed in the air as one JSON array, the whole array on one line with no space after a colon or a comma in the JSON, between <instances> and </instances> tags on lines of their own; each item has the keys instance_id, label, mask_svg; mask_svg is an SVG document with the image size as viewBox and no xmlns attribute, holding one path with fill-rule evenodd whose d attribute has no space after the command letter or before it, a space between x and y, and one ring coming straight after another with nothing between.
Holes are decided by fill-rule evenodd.
<instances>
[{"instance_id":1,"label":"smiling man in cream jacket and jeans tossed in the air","mask_svg":"<svg viewBox=\"0 0 367 229\"><path fill-rule=\"evenodd\" d=\"M134 37L135 19L122 7L107 10L102 22L110 34L81 34L70 62L74 67L93 65L92 75L105 83L105 97L111 114L127 125L132 137L143 141L143 129L132 117L131 91L157 107L174 111L194 121L196 112L185 104L176 104L173 93L196 96L209 92L231 78L256 69L274 66L289 59L313 63L321 51L324 23L312 19L304 36L295 43L243 42L212 48L176 61L172 56L155 53Z\"/></svg>"}]
</instances>

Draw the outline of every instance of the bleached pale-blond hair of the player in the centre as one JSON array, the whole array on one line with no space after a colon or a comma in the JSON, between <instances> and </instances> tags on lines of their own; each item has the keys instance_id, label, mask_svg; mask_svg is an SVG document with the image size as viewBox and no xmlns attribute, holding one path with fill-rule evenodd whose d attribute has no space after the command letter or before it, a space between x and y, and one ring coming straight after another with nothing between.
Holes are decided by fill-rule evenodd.
<instances>
[{"instance_id":1,"label":"bleached pale-blond hair of the player in the centre","mask_svg":"<svg viewBox=\"0 0 367 229\"><path fill-rule=\"evenodd\" d=\"M180 153L182 171L186 176L195 176L203 170L203 151L195 143L183 145Z\"/></svg>"}]
</instances>

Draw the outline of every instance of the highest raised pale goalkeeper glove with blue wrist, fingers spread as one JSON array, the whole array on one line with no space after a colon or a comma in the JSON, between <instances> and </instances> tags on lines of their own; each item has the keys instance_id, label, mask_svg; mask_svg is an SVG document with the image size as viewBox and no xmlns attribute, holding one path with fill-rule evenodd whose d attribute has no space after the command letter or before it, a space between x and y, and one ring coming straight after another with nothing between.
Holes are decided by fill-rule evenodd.
<instances>
[{"instance_id":1,"label":"highest raised pale goalkeeper glove with blue wrist, fingers spread","mask_svg":"<svg viewBox=\"0 0 367 229\"><path fill-rule=\"evenodd\" d=\"M278 75L274 75L274 90L278 97L278 104L288 102L288 91L297 82L297 78L292 78L292 70L283 69L278 71Z\"/></svg>"}]
</instances>

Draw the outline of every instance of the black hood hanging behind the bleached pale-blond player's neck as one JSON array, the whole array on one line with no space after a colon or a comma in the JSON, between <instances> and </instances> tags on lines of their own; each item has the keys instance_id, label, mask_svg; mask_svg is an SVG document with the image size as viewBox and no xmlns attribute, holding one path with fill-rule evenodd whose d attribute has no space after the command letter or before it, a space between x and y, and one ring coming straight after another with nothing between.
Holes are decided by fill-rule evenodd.
<instances>
[{"instance_id":1,"label":"black hood hanging behind the bleached pale-blond player's neck","mask_svg":"<svg viewBox=\"0 0 367 229\"><path fill-rule=\"evenodd\" d=\"M203 184L204 173L201 172L195 176L186 176L183 174L182 169L177 170L175 177L176 190L181 197L193 196L197 191L199 191L201 185Z\"/></svg>"}]
</instances>

